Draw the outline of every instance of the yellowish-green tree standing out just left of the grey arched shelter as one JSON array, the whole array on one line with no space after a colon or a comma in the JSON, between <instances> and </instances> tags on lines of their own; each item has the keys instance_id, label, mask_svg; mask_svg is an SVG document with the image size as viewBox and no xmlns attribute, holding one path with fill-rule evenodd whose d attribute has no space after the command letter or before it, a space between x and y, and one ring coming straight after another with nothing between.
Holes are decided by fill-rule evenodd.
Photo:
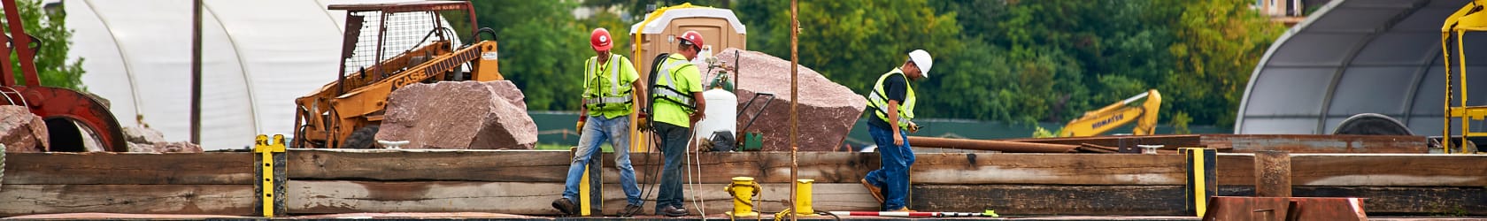
<instances>
[{"instance_id":1,"label":"yellowish-green tree standing out just left of the grey arched shelter","mask_svg":"<svg viewBox=\"0 0 1487 221\"><path fill-rule=\"evenodd\" d=\"M1233 126L1249 74L1285 27L1245 0L1166 1L1184 3L1187 10L1173 24L1179 40L1167 50L1176 65L1161 85L1181 90L1163 95L1184 104L1173 110L1191 114L1193 122Z\"/></svg>"}]
</instances>

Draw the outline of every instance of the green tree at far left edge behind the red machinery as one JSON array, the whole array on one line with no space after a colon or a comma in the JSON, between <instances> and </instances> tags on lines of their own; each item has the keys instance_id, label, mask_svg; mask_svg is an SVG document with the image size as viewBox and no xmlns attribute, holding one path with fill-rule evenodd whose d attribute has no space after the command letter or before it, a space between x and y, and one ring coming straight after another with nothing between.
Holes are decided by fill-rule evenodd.
<instances>
[{"instance_id":1,"label":"green tree at far left edge behind the red machinery","mask_svg":"<svg viewBox=\"0 0 1487 221\"><path fill-rule=\"evenodd\" d=\"M61 10L46 10L42 9L42 1L39 0L18 0L18 10L21 12L21 25L25 27L25 33L34 36L40 43L36 49L36 73L42 80L43 86L65 88L74 90L86 90L82 83L83 76L83 59L67 59L67 50L71 47L73 31L67 30L65 16ZM0 13L3 15L3 13ZM10 27L4 27L9 36ZM21 58L19 53L10 52L10 67L15 73L18 83L24 83L21 76Z\"/></svg>"}]
</instances>

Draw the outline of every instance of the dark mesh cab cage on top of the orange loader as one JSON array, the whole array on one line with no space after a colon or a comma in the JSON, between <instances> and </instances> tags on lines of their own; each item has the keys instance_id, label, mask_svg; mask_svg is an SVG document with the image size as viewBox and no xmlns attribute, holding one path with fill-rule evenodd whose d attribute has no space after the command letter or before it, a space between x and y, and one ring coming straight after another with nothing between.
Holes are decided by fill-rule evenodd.
<instances>
[{"instance_id":1,"label":"dark mesh cab cage on top of the orange loader","mask_svg":"<svg viewBox=\"0 0 1487 221\"><path fill-rule=\"evenodd\" d=\"M468 18L474 31L474 9L470 1L407 1L379 4L332 4L330 10L346 10L346 33L342 39L341 74L367 73L373 80L391 76L400 70L378 68L379 61L397 58L434 42L449 42L451 50L458 39L454 30L439 19ZM370 68L370 70L366 70Z\"/></svg>"}]
</instances>

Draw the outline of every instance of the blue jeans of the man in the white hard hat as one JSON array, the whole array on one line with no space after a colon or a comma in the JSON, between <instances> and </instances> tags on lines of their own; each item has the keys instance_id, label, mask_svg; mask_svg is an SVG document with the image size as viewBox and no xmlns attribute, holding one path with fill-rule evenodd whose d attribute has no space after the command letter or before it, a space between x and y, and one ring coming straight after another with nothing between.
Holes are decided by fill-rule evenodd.
<instances>
[{"instance_id":1,"label":"blue jeans of the man in the white hard hat","mask_svg":"<svg viewBox=\"0 0 1487 221\"><path fill-rule=\"evenodd\" d=\"M867 126L867 133L873 135L877 144L877 157L883 168L867 172L867 182L883 190L883 211L903 209L904 197L909 196L909 166L915 165L915 150L909 148L909 133L900 131L898 136L904 145L894 145L894 129Z\"/></svg>"}]
</instances>

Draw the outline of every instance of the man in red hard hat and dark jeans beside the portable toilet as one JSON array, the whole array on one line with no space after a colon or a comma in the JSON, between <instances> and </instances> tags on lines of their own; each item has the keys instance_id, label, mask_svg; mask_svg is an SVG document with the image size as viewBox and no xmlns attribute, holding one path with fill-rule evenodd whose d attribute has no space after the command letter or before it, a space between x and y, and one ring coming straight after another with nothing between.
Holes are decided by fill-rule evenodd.
<instances>
[{"instance_id":1,"label":"man in red hard hat and dark jeans beside the portable toilet","mask_svg":"<svg viewBox=\"0 0 1487 221\"><path fill-rule=\"evenodd\" d=\"M703 47L702 34L687 31L677 36L677 53L671 53L656 70L656 86L651 88L651 107L656 111L654 132L660 136L660 153L666 159L662 168L660 188L656 196L656 215L683 217L687 209L681 196L681 163L691 141L691 128L703 119L708 108L702 98L702 73L691 64Z\"/></svg>"}]
</instances>

